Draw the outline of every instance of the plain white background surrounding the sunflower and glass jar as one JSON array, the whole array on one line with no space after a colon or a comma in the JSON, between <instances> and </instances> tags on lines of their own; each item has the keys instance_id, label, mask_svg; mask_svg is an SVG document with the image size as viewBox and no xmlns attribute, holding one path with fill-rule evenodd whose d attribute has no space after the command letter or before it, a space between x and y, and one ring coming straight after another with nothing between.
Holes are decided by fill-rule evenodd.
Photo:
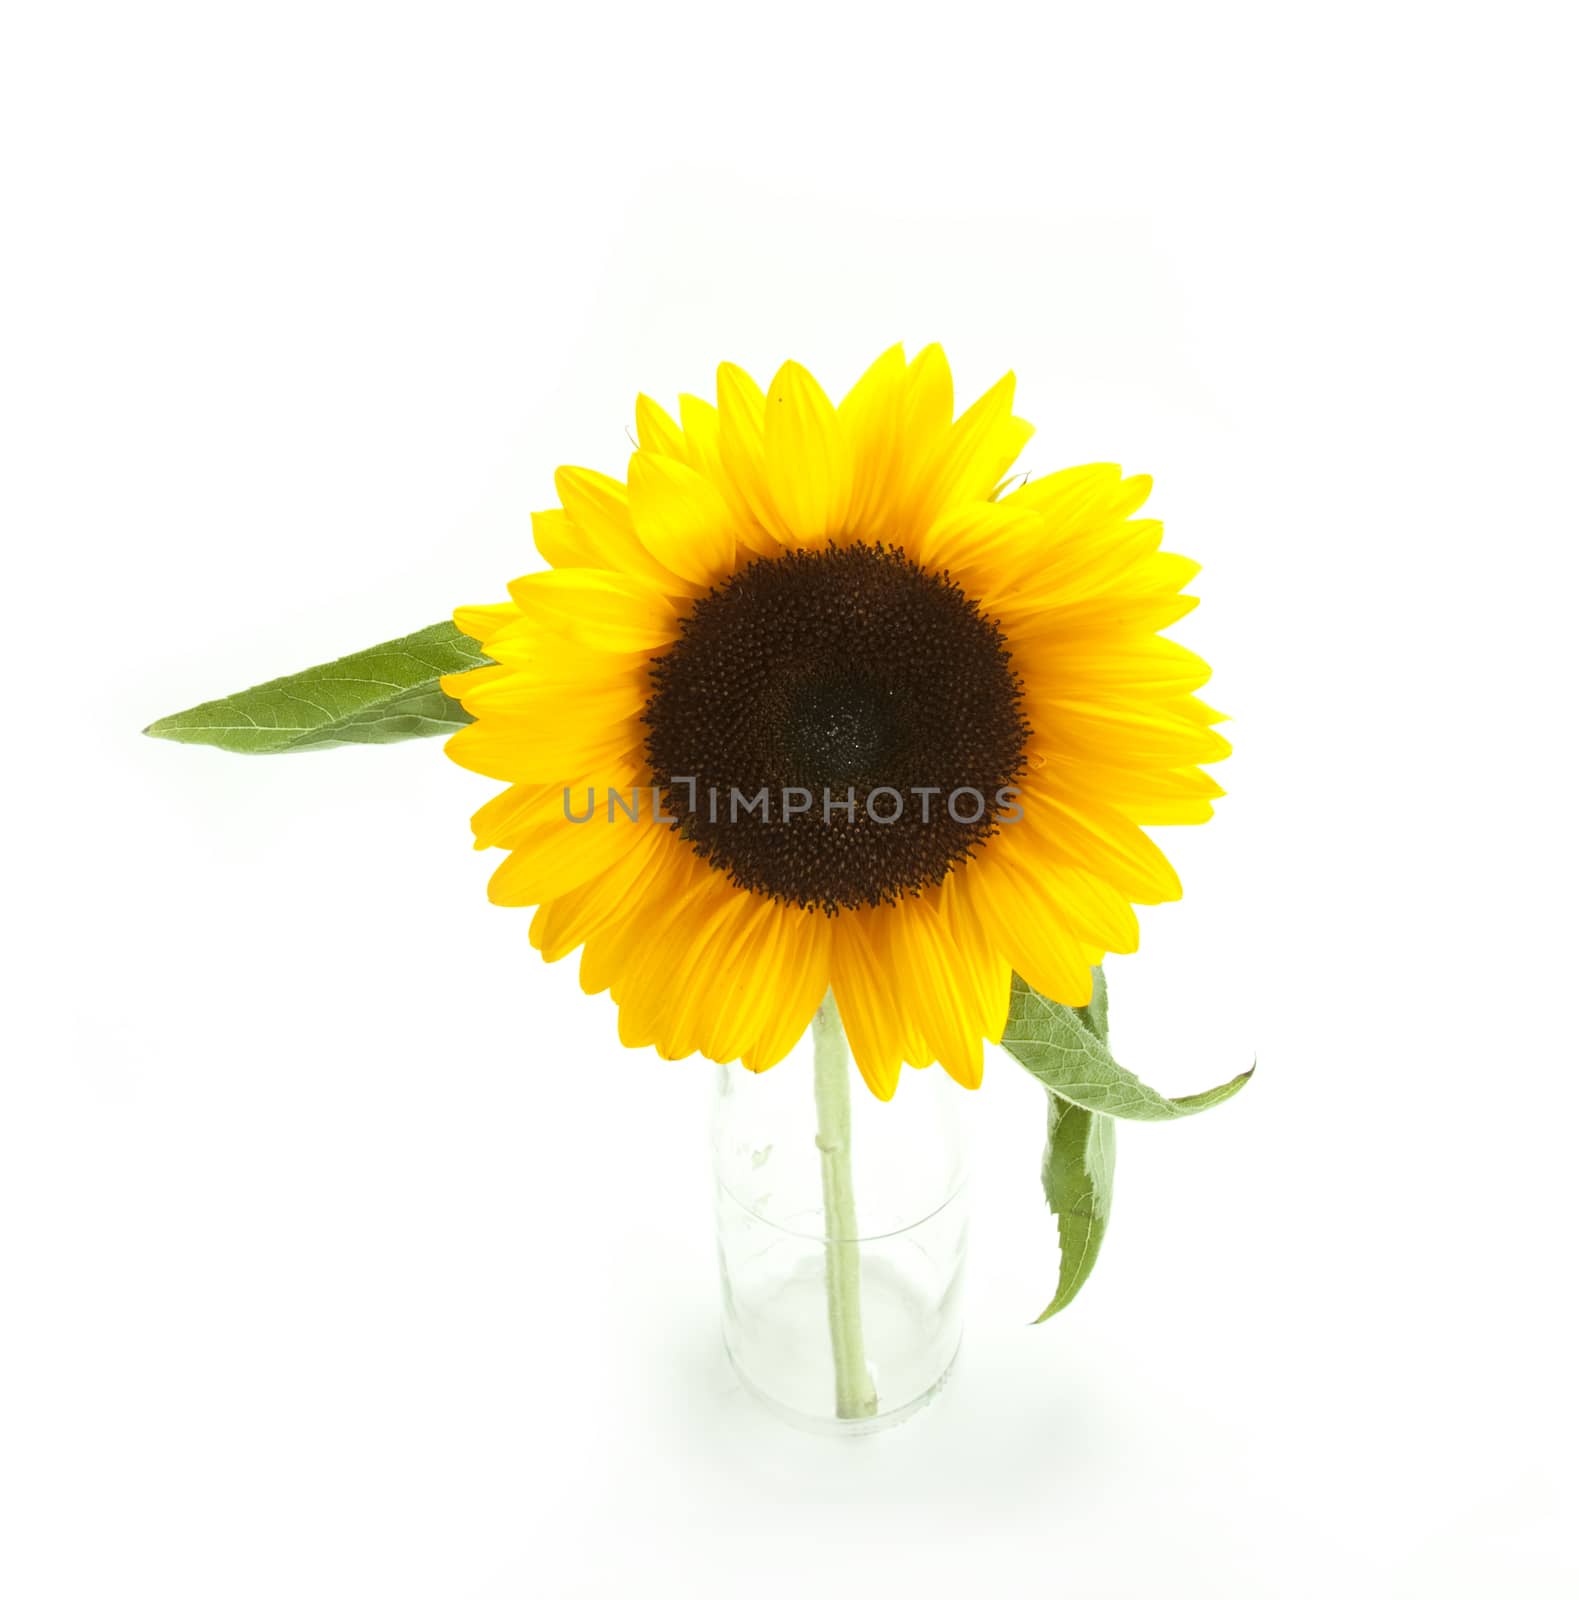
<instances>
[{"instance_id":1,"label":"plain white background surrounding the sunflower and glass jar","mask_svg":"<svg viewBox=\"0 0 1579 1600\"><path fill-rule=\"evenodd\" d=\"M42 5L0 35L0 1589L1571 1595L1557 8ZM965 1354L717 1338L710 1070L486 904L437 742L165 712L493 600L638 389L942 339L1157 475L1235 722L1056 1274L997 1058Z\"/></svg>"}]
</instances>

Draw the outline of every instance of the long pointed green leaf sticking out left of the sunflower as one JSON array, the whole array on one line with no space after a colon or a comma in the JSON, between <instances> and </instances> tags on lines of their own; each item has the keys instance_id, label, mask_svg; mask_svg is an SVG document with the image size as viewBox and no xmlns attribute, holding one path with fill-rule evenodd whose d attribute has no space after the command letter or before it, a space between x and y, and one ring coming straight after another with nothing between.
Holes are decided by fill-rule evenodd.
<instances>
[{"instance_id":1,"label":"long pointed green leaf sticking out left of the sunflower","mask_svg":"<svg viewBox=\"0 0 1579 1600\"><path fill-rule=\"evenodd\" d=\"M322 667L205 701L142 731L250 755L424 739L472 720L438 686L440 677L486 664L477 642L454 622L435 622Z\"/></svg>"}]
</instances>

